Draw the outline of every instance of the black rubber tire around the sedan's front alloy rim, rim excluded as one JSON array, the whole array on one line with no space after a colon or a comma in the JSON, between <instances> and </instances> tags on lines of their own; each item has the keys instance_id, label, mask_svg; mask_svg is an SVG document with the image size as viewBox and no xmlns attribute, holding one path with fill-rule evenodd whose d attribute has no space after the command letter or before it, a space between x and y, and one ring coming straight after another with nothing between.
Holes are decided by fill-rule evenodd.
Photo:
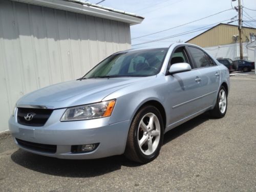
<instances>
[{"instance_id":1,"label":"black rubber tire around the sedan's front alloy rim, rim excluded","mask_svg":"<svg viewBox=\"0 0 256 192\"><path fill-rule=\"evenodd\" d=\"M140 122L141 122L142 118L144 120L145 120L145 118L147 118L147 117L145 117L147 114L154 114L157 117L158 121L159 121L159 124L154 123L153 131L154 131L154 129L155 130L157 129L156 127L158 127L158 130L160 130L160 135L155 136L154 141L153 141L153 139L154 139L154 136L153 136L153 138L151 140L152 143L156 142L156 144L157 144L157 141L159 141L159 143L158 143L154 153L152 153L150 155L145 155L144 154L145 151L144 151L144 153L142 153L143 149L140 148L140 146L139 146L139 135L140 135L140 130L142 130L141 127L139 127L139 125L140 125ZM156 125L156 124L158 124L158 125ZM148 125L149 125L149 122L148 122ZM160 125L160 129L159 129L159 125ZM129 131L129 134L128 134L128 137L127 137L125 152L124 152L125 157L132 160L132 161L139 162L139 163L148 163L148 162L154 160L159 155L159 152L160 152L160 149L161 149L161 146L162 146L163 130L164 130L163 129L163 119L162 119L162 116L161 116L159 110L155 106L152 106L152 105L143 106L137 112L137 114L135 115L135 117L132 121L130 131ZM156 139L156 137L158 137L159 140ZM146 142L145 142L145 144L147 144ZM152 146L153 146L153 144L152 144Z\"/></svg>"}]
</instances>

